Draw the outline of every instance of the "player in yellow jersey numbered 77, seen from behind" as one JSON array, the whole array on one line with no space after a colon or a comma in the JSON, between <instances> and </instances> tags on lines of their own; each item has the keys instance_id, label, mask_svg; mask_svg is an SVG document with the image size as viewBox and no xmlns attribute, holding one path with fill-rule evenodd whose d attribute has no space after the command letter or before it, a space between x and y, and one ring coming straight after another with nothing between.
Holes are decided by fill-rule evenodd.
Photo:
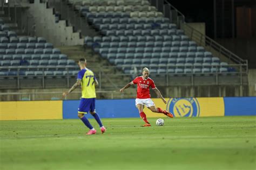
<instances>
[{"instance_id":1,"label":"player in yellow jersey numbered 77, seen from behind","mask_svg":"<svg viewBox=\"0 0 256 170\"><path fill-rule=\"evenodd\" d=\"M92 127L89 120L84 116L84 114L87 114L88 112L90 112L96 119L97 123L99 124L100 131L104 133L106 132L106 128L102 125L102 121L95 111L95 86L98 86L98 81L95 77L95 74L86 68L86 59L79 59L78 65L80 67L80 71L77 74L77 82L70 88L69 91L63 92L63 96L66 97L80 85L82 89L82 98L78 108L78 117L83 121L85 126L90 129L90 131L86 134L90 135L96 133L95 128Z\"/></svg>"}]
</instances>

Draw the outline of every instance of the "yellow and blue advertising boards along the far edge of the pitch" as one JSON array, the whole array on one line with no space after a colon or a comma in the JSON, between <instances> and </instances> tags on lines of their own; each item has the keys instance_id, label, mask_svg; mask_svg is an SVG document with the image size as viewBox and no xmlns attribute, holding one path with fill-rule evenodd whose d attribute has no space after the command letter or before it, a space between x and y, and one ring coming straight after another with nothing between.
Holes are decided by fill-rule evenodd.
<instances>
[{"instance_id":1,"label":"yellow and blue advertising boards along the far edge of the pitch","mask_svg":"<svg viewBox=\"0 0 256 170\"><path fill-rule=\"evenodd\" d=\"M152 100L175 117L217 117L256 115L256 97L165 98ZM77 119L79 100L59 101L2 101L0 120ZM101 118L138 118L134 99L96 100L96 111ZM147 117L165 117L144 110ZM90 114L86 115L92 118Z\"/></svg>"}]
</instances>

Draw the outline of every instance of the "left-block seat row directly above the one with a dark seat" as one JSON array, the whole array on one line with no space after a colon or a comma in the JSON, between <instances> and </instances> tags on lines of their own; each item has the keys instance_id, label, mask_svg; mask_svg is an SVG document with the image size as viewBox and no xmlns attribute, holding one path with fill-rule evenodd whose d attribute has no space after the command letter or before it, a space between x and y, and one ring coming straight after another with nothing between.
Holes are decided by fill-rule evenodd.
<instances>
[{"instance_id":1,"label":"left-block seat row directly above the one with a dark seat","mask_svg":"<svg viewBox=\"0 0 256 170\"><path fill-rule=\"evenodd\" d=\"M0 55L0 60L39 60L39 59L68 59L64 54L44 55Z\"/></svg>"}]
</instances>

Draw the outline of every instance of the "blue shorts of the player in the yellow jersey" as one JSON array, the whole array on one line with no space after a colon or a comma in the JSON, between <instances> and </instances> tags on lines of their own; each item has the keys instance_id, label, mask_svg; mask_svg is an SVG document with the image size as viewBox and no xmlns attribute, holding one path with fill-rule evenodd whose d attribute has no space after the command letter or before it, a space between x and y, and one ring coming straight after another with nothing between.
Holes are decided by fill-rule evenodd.
<instances>
[{"instance_id":1,"label":"blue shorts of the player in the yellow jersey","mask_svg":"<svg viewBox=\"0 0 256 170\"><path fill-rule=\"evenodd\" d=\"M80 100L78 113L87 114L88 112L95 111L95 98L85 99L82 98Z\"/></svg>"}]
</instances>

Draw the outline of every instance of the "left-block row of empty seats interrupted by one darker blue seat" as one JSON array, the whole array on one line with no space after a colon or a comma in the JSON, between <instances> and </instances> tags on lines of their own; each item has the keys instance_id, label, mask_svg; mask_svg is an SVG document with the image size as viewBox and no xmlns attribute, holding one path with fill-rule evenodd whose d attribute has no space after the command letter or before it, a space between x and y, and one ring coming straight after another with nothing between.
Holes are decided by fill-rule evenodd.
<instances>
[{"instance_id":1,"label":"left-block row of empty seats interrupted by one darker blue seat","mask_svg":"<svg viewBox=\"0 0 256 170\"><path fill-rule=\"evenodd\" d=\"M1 66L19 66L21 63L20 60L0 60ZM60 60L29 60L29 65L75 65L75 61L68 59L60 59Z\"/></svg>"}]
</instances>

